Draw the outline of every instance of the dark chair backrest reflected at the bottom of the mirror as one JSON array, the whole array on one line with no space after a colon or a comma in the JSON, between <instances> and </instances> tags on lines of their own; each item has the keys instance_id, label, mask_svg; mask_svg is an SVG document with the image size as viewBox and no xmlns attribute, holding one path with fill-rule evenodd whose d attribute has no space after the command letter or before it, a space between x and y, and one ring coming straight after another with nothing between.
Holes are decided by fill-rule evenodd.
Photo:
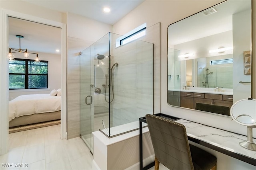
<instances>
[{"instance_id":1,"label":"dark chair backrest reflected at the bottom of the mirror","mask_svg":"<svg viewBox=\"0 0 256 170\"><path fill-rule=\"evenodd\" d=\"M213 105L213 104L196 103L195 109L230 116L230 107L228 107L228 106L219 106L219 105Z\"/></svg>"}]
</instances>

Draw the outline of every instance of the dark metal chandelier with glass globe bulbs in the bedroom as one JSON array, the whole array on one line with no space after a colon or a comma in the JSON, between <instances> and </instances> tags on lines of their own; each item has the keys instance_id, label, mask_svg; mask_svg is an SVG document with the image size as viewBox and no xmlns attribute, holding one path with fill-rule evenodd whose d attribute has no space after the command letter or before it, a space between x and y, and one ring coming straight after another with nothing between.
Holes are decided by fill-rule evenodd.
<instances>
[{"instance_id":1,"label":"dark metal chandelier with glass globe bulbs in the bedroom","mask_svg":"<svg viewBox=\"0 0 256 170\"><path fill-rule=\"evenodd\" d=\"M17 38L21 39L24 38L22 35L16 35ZM30 53L28 52L28 49L13 49L13 48L9 48L9 53L8 53L8 59L9 61L14 60L14 55L13 53L24 53L24 57L28 58L29 54L35 54L36 57L34 58L34 62L40 62L41 59L38 57L38 53Z\"/></svg>"}]
</instances>

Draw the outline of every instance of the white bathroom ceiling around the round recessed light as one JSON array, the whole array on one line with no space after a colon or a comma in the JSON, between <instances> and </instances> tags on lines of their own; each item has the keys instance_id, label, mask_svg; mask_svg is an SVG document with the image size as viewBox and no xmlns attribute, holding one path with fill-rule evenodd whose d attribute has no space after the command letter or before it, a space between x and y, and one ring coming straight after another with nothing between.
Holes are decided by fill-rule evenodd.
<instances>
[{"instance_id":1,"label":"white bathroom ceiling around the round recessed light","mask_svg":"<svg viewBox=\"0 0 256 170\"><path fill-rule=\"evenodd\" d=\"M114 25L126 16L144 0L24 0L59 12L71 12ZM103 12L103 8L110 8L110 13Z\"/></svg>"}]
</instances>

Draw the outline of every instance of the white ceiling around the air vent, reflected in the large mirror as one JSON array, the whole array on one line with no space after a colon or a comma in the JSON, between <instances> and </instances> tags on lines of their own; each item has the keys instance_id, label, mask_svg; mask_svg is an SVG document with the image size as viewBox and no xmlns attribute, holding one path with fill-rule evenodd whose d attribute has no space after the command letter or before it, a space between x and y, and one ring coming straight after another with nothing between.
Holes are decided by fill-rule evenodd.
<instances>
[{"instance_id":1,"label":"white ceiling around the air vent, reflected in the large mirror","mask_svg":"<svg viewBox=\"0 0 256 170\"><path fill-rule=\"evenodd\" d=\"M168 44L177 45L232 30L232 15L250 9L250 0L228 0L214 6L216 13L199 12L168 27Z\"/></svg>"}]
</instances>

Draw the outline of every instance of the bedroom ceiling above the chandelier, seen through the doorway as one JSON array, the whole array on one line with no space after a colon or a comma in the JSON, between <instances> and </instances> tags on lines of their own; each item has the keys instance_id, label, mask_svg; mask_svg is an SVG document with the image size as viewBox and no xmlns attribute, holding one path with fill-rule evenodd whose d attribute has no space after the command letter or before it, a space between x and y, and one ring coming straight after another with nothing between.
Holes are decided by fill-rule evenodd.
<instances>
[{"instance_id":1,"label":"bedroom ceiling above the chandelier, seen through the doorway","mask_svg":"<svg viewBox=\"0 0 256 170\"><path fill-rule=\"evenodd\" d=\"M30 53L52 53L61 50L61 29L32 21L9 17L9 47L28 49ZM22 35L24 38L16 37ZM20 41L20 47L19 47ZM16 56L16 54L14 54Z\"/></svg>"}]
</instances>

